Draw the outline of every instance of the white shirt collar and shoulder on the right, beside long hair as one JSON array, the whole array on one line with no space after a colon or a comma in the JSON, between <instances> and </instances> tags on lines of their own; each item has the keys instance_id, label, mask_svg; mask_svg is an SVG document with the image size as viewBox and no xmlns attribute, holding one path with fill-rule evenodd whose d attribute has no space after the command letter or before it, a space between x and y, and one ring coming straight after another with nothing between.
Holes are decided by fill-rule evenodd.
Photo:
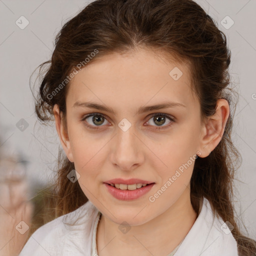
<instances>
[{"instance_id":1,"label":"white shirt collar and shoulder on the right, beside long hair","mask_svg":"<svg viewBox=\"0 0 256 256\"><path fill-rule=\"evenodd\" d=\"M190 256L238 256L236 240L226 227L204 197L201 211L175 255L187 255L189 251Z\"/></svg>"}]
</instances>

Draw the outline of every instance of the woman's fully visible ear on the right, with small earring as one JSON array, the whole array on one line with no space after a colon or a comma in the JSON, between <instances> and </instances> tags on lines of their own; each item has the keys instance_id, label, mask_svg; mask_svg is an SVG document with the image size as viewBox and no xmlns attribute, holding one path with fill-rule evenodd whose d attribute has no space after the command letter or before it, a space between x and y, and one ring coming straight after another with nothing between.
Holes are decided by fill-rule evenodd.
<instances>
[{"instance_id":1,"label":"woman's fully visible ear on the right, with small earring","mask_svg":"<svg viewBox=\"0 0 256 256\"><path fill-rule=\"evenodd\" d=\"M217 146L221 140L225 125L229 116L229 104L226 99L217 100L216 111L212 116L207 117L203 124L203 131L200 141L200 157L206 157Z\"/></svg>"}]
</instances>

